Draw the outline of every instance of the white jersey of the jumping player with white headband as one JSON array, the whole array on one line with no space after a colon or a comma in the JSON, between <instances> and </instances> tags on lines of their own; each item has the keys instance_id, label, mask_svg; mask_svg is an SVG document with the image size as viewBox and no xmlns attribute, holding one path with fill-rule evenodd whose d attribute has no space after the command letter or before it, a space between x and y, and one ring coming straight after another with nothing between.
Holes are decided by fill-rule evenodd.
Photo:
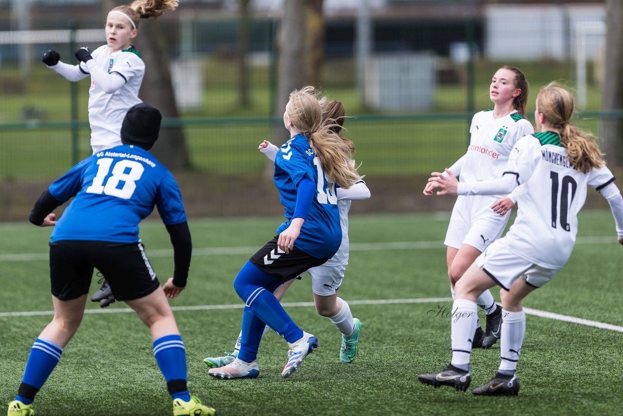
<instances>
[{"instance_id":1,"label":"white jersey of the jumping player with white headband","mask_svg":"<svg viewBox=\"0 0 623 416\"><path fill-rule=\"evenodd\" d=\"M145 64L133 46L122 51L110 53L108 45L100 46L92 52L93 60L103 70L115 72L125 79L120 89L108 94L91 80L88 90L88 122L91 126L91 145L115 147L121 145L121 123L130 107L142 102L138 90L145 75ZM86 65L81 62L80 70L88 74Z\"/></svg>"}]
</instances>

